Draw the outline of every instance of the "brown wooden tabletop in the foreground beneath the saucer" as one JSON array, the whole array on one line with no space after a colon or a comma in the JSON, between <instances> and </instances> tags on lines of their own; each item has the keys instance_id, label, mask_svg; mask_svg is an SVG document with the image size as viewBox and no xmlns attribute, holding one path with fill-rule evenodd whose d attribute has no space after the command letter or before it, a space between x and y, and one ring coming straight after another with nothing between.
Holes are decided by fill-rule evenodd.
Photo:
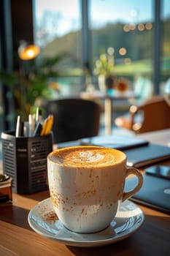
<instances>
[{"instance_id":1,"label":"brown wooden tabletop in the foreground beneath the saucer","mask_svg":"<svg viewBox=\"0 0 170 256\"><path fill-rule=\"evenodd\" d=\"M170 129L159 135L166 141ZM155 132L156 133L156 132ZM150 132L152 140L158 134ZM148 133L146 134L148 138ZM142 135L144 138L144 135ZM168 136L169 137L169 136ZM170 164L170 160L164 162ZM144 223L132 236L117 244L102 247L80 248L65 246L35 233L28 225L28 212L39 201L49 197L49 192L33 195L13 194L12 204L0 204L0 256L31 255L132 255L168 256L170 252L170 216L161 211L139 206L144 211Z\"/></svg>"}]
</instances>

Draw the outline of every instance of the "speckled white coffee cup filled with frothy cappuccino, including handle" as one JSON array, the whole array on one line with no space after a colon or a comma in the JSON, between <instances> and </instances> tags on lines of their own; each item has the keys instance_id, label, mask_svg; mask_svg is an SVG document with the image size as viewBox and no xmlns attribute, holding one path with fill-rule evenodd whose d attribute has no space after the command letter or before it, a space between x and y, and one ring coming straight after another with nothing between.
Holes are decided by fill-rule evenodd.
<instances>
[{"instance_id":1,"label":"speckled white coffee cup filled with frothy cappuccino, including handle","mask_svg":"<svg viewBox=\"0 0 170 256\"><path fill-rule=\"evenodd\" d=\"M142 174L126 167L122 151L98 146L61 148L47 157L50 197L58 219L77 233L103 230L120 203L142 187ZM134 174L136 187L124 192L125 178Z\"/></svg>"}]
</instances>

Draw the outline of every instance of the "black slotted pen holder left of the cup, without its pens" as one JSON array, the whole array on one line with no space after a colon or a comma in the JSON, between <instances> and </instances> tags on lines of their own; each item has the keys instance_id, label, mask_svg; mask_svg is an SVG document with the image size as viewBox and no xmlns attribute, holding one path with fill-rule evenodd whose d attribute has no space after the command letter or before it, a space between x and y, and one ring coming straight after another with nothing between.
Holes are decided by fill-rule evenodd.
<instances>
[{"instance_id":1,"label":"black slotted pen holder left of the cup, without its pens","mask_svg":"<svg viewBox=\"0 0 170 256\"><path fill-rule=\"evenodd\" d=\"M2 132L4 174L12 178L12 192L31 194L48 189L47 154L53 151L53 133L39 137L15 137Z\"/></svg>"}]
</instances>

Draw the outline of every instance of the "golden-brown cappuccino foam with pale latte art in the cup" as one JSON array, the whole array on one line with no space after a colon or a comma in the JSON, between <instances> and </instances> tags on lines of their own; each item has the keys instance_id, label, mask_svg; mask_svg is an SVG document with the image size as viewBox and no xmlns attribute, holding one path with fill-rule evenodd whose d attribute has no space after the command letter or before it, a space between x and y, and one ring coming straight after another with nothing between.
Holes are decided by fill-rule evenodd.
<instances>
[{"instance_id":1,"label":"golden-brown cappuccino foam with pale latte art in the cup","mask_svg":"<svg viewBox=\"0 0 170 256\"><path fill-rule=\"evenodd\" d=\"M49 158L59 165L96 167L113 165L125 159L123 152L99 146L76 146L53 151Z\"/></svg>"}]
</instances>

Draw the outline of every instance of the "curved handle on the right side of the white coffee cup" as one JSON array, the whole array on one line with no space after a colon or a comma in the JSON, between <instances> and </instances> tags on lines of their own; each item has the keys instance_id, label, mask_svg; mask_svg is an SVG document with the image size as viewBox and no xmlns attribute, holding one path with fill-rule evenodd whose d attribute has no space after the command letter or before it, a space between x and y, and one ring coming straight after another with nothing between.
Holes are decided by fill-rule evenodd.
<instances>
[{"instance_id":1,"label":"curved handle on the right side of the white coffee cup","mask_svg":"<svg viewBox=\"0 0 170 256\"><path fill-rule=\"evenodd\" d=\"M141 189L142 184L143 184L143 176L142 176L142 173L138 169L136 169L135 167L127 167L127 173L125 175L126 178L130 174L134 174L138 178L138 183L136 184L136 187L134 187L134 189L131 189L128 192L123 192L122 201L125 201L126 199L128 199L132 195L136 194L136 192L138 192L139 189Z\"/></svg>"}]
</instances>

